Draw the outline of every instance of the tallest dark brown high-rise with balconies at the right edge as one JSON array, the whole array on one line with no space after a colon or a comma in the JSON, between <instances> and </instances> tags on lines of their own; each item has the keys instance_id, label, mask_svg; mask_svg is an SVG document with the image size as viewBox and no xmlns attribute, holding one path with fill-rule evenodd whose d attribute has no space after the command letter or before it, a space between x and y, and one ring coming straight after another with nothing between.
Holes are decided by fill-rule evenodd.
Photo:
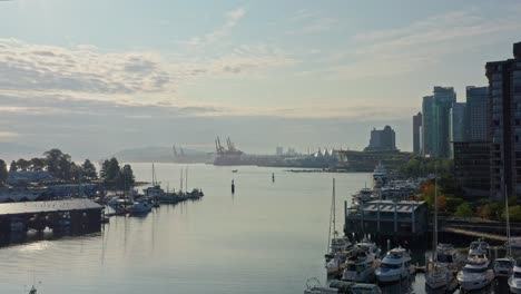
<instances>
[{"instance_id":1,"label":"tallest dark brown high-rise with balconies at the right edge","mask_svg":"<svg viewBox=\"0 0 521 294\"><path fill-rule=\"evenodd\" d=\"M486 62L490 90L491 197L521 200L521 42L513 59Z\"/></svg>"}]
</instances>

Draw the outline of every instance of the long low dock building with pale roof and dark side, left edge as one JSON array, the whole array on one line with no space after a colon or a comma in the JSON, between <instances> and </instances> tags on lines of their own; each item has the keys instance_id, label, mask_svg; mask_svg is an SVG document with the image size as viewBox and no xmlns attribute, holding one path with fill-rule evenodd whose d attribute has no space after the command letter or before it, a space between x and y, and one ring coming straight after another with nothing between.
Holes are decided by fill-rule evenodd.
<instances>
[{"instance_id":1,"label":"long low dock building with pale roof and dark side, left edge","mask_svg":"<svg viewBox=\"0 0 521 294\"><path fill-rule=\"evenodd\" d=\"M0 234L46 227L97 232L101 229L102 213L101 205L85 198L0 204Z\"/></svg>"}]
</instances>

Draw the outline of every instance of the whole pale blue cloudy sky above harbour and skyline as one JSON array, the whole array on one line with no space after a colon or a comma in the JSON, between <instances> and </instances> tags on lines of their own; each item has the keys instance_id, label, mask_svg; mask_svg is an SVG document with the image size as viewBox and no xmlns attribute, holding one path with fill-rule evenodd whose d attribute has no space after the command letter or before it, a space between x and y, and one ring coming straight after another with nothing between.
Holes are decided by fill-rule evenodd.
<instances>
[{"instance_id":1,"label":"whole pale blue cloudy sky above harbour and skyline","mask_svg":"<svg viewBox=\"0 0 521 294\"><path fill-rule=\"evenodd\" d=\"M362 149L390 125L411 150L421 98L486 86L520 16L508 0L0 1L0 146Z\"/></svg>"}]
</instances>

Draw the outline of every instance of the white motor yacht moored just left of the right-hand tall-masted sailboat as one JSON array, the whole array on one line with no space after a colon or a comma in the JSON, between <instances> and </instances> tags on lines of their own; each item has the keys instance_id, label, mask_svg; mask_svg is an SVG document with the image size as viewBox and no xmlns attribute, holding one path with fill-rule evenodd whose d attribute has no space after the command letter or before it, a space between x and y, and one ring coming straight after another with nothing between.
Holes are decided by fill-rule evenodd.
<instances>
[{"instance_id":1,"label":"white motor yacht moored just left of the right-hand tall-masted sailboat","mask_svg":"<svg viewBox=\"0 0 521 294\"><path fill-rule=\"evenodd\" d=\"M411 255L402 247L393 248L380 263L375 272L376 280L380 283L397 282L409 277L414 273L414 266L411 265Z\"/></svg>"}]
</instances>

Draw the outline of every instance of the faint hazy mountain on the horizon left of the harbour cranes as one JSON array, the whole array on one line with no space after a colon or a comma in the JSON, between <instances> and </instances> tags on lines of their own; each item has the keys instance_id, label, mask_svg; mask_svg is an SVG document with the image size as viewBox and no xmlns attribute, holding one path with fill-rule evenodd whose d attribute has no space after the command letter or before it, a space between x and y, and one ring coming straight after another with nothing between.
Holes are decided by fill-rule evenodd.
<instances>
[{"instance_id":1,"label":"faint hazy mountain on the horizon left of the harbour cranes","mask_svg":"<svg viewBox=\"0 0 521 294\"><path fill-rule=\"evenodd\" d=\"M150 146L120 150L112 156L120 161L129 163L213 163L214 155L210 153L180 148L175 156L171 147Z\"/></svg>"}]
</instances>

